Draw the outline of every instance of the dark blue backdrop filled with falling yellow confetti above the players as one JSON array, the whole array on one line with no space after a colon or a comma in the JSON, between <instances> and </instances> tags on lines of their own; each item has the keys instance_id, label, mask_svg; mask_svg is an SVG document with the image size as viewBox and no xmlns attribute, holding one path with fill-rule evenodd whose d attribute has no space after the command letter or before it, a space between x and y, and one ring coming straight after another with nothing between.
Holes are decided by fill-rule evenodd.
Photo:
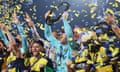
<instances>
[{"instance_id":1,"label":"dark blue backdrop filled with falling yellow confetti above the players","mask_svg":"<svg viewBox=\"0 0 120 72\"><path fill-rule=\"evenodd\" d=\"M0 1L0 21L8 25L10 31L15 33L15 26L11 24L13 10L17 10L19 20L25 27L26 35L30 35L29 27L24 20L24 13L28 12L34 21L40 35L44 37L44 14L52 7L61 2L68 2L69 23L75 26L88 27L96 25L99 21L103 21L105 12L115 13L116 22L120 22L120 0L1 0ZM63 7L56 11L56 16L63 11ZM119 14L118 14L119 12ZM7 17L8 16L8 17ZM52 25L53 30L60 30L62 22Z\"/></svg>"}]
</instances>

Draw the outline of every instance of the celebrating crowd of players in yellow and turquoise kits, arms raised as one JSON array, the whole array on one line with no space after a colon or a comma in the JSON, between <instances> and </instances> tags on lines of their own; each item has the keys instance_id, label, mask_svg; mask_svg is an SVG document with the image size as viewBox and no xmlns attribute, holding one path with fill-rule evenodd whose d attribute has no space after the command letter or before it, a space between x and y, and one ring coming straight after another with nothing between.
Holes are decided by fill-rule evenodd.
<instances>
[{"instance_id":1,"label":"celebrating crowd of players in yellow and turquoise kits, arms raised","mask_svg":"<svg viewBox=\"0 0 120 72\"><path fill-rule=\"evenodd\" d=\"M53 13L52 13L53 14ZM50 11L45 19L52 16ZM119 72L120 28L113 14L106 13L104 22L91 29L68 24L68 12L59 21L64 31L52 31L45 22L41 38L32 19L25 14L32 39L27 39L24 28L13 13L18 33L13 36L7 26L0 23L1 72Z\"/></svg>"}]
</instances>

